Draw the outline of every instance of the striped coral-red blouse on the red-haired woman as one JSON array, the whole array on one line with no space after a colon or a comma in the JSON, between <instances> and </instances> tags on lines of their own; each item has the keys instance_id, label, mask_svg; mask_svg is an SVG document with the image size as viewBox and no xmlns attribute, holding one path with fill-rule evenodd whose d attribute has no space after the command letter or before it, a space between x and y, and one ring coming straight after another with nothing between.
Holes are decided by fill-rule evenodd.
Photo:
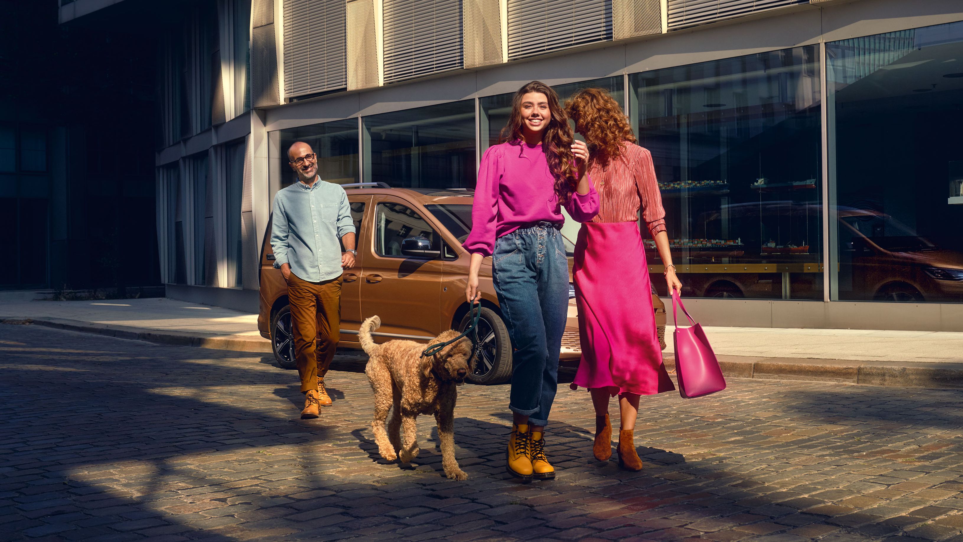
<instances>
[{"instance_id":1,"label":"striped coral-red blouse on the red-haired woman","mask_svg":"<svg viewBox=\"0 0 963 542\"><path fill-rule=\"evenodd\" d=\"M599 193L599 214L591 222L634 222L638 209L654 238L665 230L665 210L652 153L625 142L622 153L605 168L592 164L588 175Z\"/></svg>"}]
</instances>

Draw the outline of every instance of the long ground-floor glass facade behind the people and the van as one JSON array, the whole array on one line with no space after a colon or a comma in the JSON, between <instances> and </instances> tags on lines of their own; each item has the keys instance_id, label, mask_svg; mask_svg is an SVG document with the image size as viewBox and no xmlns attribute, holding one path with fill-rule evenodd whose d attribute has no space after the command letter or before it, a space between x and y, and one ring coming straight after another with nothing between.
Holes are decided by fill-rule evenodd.
<instances>
[{"instance_id":1,"label":"long ground-floor glass facade behind the people and the van","mask_svg":"<svg viewBox=\"0 0 963 542\"><path fill-rule=\"evenodd\" d=\"M825 51L631 73L627 89L623 76L555 89L565 100L604 88L629 112L653 155L685 295L963 302L963 22ZM498 143L511 96L481 96L477 122L473 100L455 101L363 117L360 130L357 119L281 130L279 148L310 143L325 180L358 181L360 170L393 187L470 188L476 137L479 152ZM280 162L286 186L294 176ZM467 205L436 214L468 234Z\"/></svg>"}]
</instances>

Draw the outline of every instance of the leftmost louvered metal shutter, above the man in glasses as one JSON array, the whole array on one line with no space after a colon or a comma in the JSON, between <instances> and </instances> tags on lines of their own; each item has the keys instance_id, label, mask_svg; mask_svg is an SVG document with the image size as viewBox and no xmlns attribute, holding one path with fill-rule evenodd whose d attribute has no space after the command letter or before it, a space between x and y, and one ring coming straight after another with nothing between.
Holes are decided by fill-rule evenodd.
<instances>
[{"instance_id":1,"label":"leftmost louvered metal shutter, above the man in glasses","mask_svg":"<svg viewBox=\"0 0 963 542\"><path fill-rule=\"evenodd\" d=\"M345 0L284 2L284 95L343 89Z\"/></svg>"}]
</instances>

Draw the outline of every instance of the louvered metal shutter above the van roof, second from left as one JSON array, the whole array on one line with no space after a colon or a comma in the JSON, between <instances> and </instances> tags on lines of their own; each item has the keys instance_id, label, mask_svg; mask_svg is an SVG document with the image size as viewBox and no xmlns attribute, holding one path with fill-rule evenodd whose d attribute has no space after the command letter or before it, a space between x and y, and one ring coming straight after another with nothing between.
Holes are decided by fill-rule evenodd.
<instances>
[{"instance_id":1,"label":"louvered metal shutter above the van roof, second from left","mask_svg":"<svg viewBox=\"0 0 963 542\"><path fill-rule=\"evenodd\" d=\"M384 1L384 82L462 67L461 0Z\"/></svg>"}]
</instances>

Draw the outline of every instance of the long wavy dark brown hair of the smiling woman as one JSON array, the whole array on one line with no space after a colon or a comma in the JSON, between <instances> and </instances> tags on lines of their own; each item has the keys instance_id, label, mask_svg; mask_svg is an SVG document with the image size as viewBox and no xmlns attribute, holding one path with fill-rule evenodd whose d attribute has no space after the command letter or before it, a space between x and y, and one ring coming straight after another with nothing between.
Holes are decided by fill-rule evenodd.
<instances>
[{"instance_id":1,"label":"long wavy dark brown hair of the smiling woman","mask_svg":"<svg viewBox=\"0 0 963 542\"><path fill-rule=\"evenodd\" d=\"M548 169L555 177L555 193L559 196L559 203L568 203L578 182L576 179L575 160L572 155L572 142L575 141L572 127L568 125L568 116L559 103L559 95L551 87L541 81L527 83L511 98L511 115L508 124L502 128L501 143L524 141L522 134L522 96L529 93L541 93L548 99L548 110L552 119L542 130L542 151L548 160Z\"/></svg>"}]
</instances>

